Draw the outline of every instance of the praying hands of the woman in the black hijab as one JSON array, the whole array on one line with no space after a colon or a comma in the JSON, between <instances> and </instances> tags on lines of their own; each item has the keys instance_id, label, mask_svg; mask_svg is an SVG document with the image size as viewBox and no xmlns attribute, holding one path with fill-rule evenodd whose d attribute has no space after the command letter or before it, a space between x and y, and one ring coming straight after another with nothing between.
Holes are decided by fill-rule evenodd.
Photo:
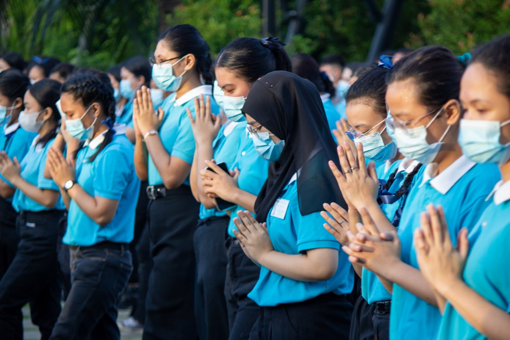
<instances>
[{"instance_id":1,"label":"praying hands of the woman in the black hijab","mask_svg":"<svg viewBox=\"0 0 510 340\"><path fill-rule=\"evenodd\" d=\"M257 222L249 211L238 211L237 216L234 218L234 224L238 230L234 229L234 235L243 244L249 254L248 257L260 263L260 259L265 253L274 250L267 225Z\"/></svg>"}]
</instances>

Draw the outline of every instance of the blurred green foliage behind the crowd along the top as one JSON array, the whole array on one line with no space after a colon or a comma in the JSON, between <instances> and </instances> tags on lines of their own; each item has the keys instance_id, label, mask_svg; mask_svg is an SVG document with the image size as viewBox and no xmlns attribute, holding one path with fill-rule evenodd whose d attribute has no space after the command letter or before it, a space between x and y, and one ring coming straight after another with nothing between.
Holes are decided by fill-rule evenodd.
<instances>
[{"instance_id":1,"label":"blurred green foliage behind the crowd along the top","mask_svg":"<svg viewBox=\"0 0 510 340\"><path fill-rule=\"evenodd\" d=\"M158 37L165 0L10 0L0 2L0 51L56 56L106 69L134 55L149 56ZM384 0L377 0L379 8ZM277 2L278 3L278 2ZM290 1L288 8L293 9ZM361 0L309 0L305 28L287 46L320 58L340 53L364 60L376 23ZM39 24L36 23L39 21ZM406 0L392 47L442 44L461 54L510 32L510 0ZM236 37L261 37L261 8L251 0L183 0L166 23L190 23L213 55ZM288 22L277 11L276 35Z\"/></svg>"}]
</instances>

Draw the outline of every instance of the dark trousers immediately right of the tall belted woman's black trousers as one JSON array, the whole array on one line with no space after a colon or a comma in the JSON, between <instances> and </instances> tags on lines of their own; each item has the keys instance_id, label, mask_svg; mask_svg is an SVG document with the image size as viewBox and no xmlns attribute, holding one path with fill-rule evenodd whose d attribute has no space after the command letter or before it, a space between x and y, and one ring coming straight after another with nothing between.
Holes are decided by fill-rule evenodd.
<instances>
[{"instance_id":1,"label":"dark trousers immediately right of the tall belted woman's black trousers","mask_svg":"<svg viewBox=\"0 0 510 340\"><path fill-rule=\"evenodd\" d=\"M198 220L193 235L196 259L195 319L200 340L228 338L225 301L226 229L229 217Z\"/></svg>"}]
</instances>

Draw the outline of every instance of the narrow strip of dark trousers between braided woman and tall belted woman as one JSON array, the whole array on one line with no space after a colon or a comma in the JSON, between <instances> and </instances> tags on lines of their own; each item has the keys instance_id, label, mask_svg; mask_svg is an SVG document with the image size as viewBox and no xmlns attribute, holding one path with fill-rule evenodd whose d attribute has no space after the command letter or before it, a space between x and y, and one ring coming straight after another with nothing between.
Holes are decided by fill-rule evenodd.
<instances>
[{"instance_id":1,"label":"narrow strip of dark trousers between braided woman and tall belted woman","mask_svg":"<svg viewBox=\"0 0 510 340\"><path fill-rule=\"evenodd\" d=\"M140 240L136 247L138 255L138 298L131 310L131 316L143 325L145 322L145 299L149 290L149 276L152 271L152 259L150 258L150 240L147 223L142 230Z\"/></svg>"}]
</instances>

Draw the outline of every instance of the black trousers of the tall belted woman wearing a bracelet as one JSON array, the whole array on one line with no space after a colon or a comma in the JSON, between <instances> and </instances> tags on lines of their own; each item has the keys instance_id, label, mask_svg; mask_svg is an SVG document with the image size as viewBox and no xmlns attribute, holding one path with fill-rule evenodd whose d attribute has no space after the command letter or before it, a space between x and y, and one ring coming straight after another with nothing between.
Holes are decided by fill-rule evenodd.
<instances>
[{"instance_id":1,"label":"black trousers of the tall belted woman wearing a bracelet","mask_svg":"<svg viewBox=\"0 0 510 340\"><path fill-rule=\"evenodd\" d=\"M142 339L195 339L193 233L199 204L190 187L182 185L151 200L147 210L154 267Z\"/></svg>"}]
</instances>

